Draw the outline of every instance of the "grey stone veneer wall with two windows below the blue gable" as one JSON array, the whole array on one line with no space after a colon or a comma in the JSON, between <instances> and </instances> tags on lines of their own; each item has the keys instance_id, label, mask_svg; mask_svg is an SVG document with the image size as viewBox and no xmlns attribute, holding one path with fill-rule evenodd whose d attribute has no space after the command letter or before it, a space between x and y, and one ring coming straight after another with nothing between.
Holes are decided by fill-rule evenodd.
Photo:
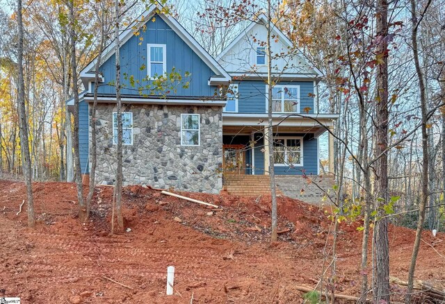
<instances>
[{"instance_id":1,"label":"grey stone veneer wall with two windows below the blue gable","mask_svg":"<svg viewBox=\"0 0 445 304\"><path fill-rule=\"evenodd\" d=\"M133 113L133 144L124 145L123 149L124 185L220 192L222 107L131 104L122 109ZM114 104L97 105L98 184L113 184L115 180L117 146L113 144L112 125L115 111ZM200 114L200 146L181 146L181 114L184 113Z\"/></svg>"}]
</instances>

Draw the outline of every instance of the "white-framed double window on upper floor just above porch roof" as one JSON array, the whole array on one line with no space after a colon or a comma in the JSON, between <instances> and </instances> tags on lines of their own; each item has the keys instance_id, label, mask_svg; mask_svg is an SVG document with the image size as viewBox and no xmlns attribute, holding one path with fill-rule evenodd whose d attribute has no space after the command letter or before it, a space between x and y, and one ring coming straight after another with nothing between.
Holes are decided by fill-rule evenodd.
<instances>
[{"instance_id":1,"label":"white-framed double window on upper floor just above porch roof","mask_svg":"<svg viewBox=\"0 0 445 304\"><path fill-rule=\"evenodd\" d=\"M300 86L275 85L272 89L272 112L299 113Z\"/></svg>"}]
</instances>

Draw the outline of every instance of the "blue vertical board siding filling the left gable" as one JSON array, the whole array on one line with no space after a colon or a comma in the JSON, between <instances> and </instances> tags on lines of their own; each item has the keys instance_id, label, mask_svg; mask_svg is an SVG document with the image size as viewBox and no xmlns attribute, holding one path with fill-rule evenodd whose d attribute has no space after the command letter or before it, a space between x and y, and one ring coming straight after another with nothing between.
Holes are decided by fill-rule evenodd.
<instances>
[{"instance_id":1,"label":"blue vertical board siding filling the left gable","mask_svg":"<svg viewBox=\"0 0 445 304\"><path fill-rule=\"evenodd\" d=\"M148 84L147 81L143 81L143 78L147 76L147 44L166 45L168 73L175 68L175 71L181 76L184 76L186 72L191 73L191 76L184 78L181 83L175 84L177 92L174 92L174 90L169 93L145 90L143 94L170 96L213 96L216 94L217 87L209 86L207 83L211 76L215 76L215 73L161 17L156 15L154 19L155 22L150 19L146 23L146 31L141 30L140 35L133 35L120 48L122 94L140 95L138 87L145 87ZM115 56L108 58L100 67L100 70L104 75L105 83L99 87L99 94L115 94L113 85L115 83ZM129 81L131 75L135 82L140 81L140 85L136 83L131 87ZM184 89L182 85L186 81L189 81L190 85ZM171 88L169 87L168 90L171 90Z\"/></svg>"}]
</instances>

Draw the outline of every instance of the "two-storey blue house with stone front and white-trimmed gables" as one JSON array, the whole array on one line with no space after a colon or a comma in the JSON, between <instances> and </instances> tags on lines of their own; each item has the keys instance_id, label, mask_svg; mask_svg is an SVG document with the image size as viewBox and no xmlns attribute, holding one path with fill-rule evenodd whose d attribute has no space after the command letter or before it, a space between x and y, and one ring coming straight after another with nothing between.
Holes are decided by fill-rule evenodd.
<instances>
[{"instance_id":1,"label":"two-storey blue house with stone front and white-trimmed gables","mask_svg":"<svg viewBox=\"0 0 445 304\"><path fill-rule=\"evenodd\" d=\"M169 15L146 10L120 35L124 184L175 187L219 193L223 176L268 174L264 149L267 104L264 47L252 35L266 28L253 22L218 58L212 58ZM135 33L135 28L140 31ZM274 28L273 52L289 40ZM97 183L115 180L117 141L115 107L115 45L104 50L96 108ZM97 60L97 59L96 59ZM80 94L79 149L81 171L89 173L90 110L96 60L81 71L86 91ZM277 67L284 64L277 60ZM287 61L273 88L275 171L289 176L317 175L318 136L332 126L335 115L314 112L314 85L320 72L298 54ZM167 75L167 81L163 76ZM160 81L160 80L163 81ZM229 90L227 90L229 87ZM226 94L221 94L227 90ZM72 101L68 101L72 105ZM303 113L283 119L283 115Z\"/></svg>"}]
</instances>

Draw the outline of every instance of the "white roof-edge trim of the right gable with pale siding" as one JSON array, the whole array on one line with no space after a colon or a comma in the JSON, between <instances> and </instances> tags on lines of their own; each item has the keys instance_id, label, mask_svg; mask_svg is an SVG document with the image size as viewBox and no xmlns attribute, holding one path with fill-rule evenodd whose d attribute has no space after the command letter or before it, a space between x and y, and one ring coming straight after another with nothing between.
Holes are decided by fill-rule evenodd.
<instances>
[{"instance_id":1,"label":"white roof-edge trim of the right gable with pale siding","mask_svg":"<svg viewBox=\"0 0 445 304\"><path fill-rule=\"evenodd\" d=\"M241 31L241 33L238 36L236 36L235 39L232 42L230 42L230 44L225 49L223 49L223 51L221 51L221 53L218 56L216 56L216 60L218 60L219 62L223 58L223 56L225 56L238 42L241 41L241 39L243 39L243 37L245 37L245 35L249 33L249 31L252 30L254 26L256 26L257 24L262 24L266 26L268 19L266 15L261 14L258 16L258 21L259 22L252 21L243 31ZM278 37L280 37L280 40L282 40L282 42L286 44L286 47L294 47L291 40L289 40L289 38L286 37L286 35L284 35L284 33L280 30L280 28L278 28L273 22L271 22L271 24L272 24L272 32L275 33L275 35L277 35ZM312 62L309 61L309 59L302 53L302 51L300 51L300 49L298 48L296 49L298 50L298 55L307 63L310 63L311 68L316 72L316 76L318 77L323 76L323 73L317 67L315 67L315 65L313 65Z\"/></svg>"}]
</instances>

